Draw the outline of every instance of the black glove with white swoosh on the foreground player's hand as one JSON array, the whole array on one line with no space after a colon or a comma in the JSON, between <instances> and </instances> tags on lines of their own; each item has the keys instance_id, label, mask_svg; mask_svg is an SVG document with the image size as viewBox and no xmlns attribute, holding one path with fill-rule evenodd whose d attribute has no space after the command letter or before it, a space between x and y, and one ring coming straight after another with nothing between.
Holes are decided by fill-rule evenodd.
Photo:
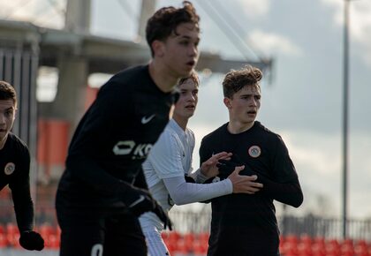
<instances>
[{"instance_id":1,"label":"black glove with white swoosh on the foreground player's hand","mask_svg":"<svg viewBox=\"0 0 371 256\"><path fill-rule=\"evenodd\" d=\"M146 212L153 212L163 222L163 228L169 228L172 230L172 223L169 216L163 211L157 201L151 196L151 194L140 188L133 188L132 193L128 194L131 200L126 200L129 210L139 217Z\"/></svg>"}]
</instances>

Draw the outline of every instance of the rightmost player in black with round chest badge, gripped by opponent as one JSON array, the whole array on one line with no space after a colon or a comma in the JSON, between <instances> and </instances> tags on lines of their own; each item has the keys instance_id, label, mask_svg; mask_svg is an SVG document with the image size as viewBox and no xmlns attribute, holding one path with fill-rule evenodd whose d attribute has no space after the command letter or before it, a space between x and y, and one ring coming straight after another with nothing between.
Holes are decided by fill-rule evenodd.
<instances>
[{"instance_id":1,"label":"rightmost player in black with round chest badge, gripped by opponent","mask_svg":"<svg viewBox=\"0 0 371 256\"><path fill-rule=\"evenodd\" d=\"M223 102L229 122L201 141L200 160L213 152L231 152L219 165L223 180L236 166L263 184L254 194L231 194L211 200L212 221L208 256L277 256L279 230L273 200L292 207L303 201L299 179L284 140L255 121L261 107L262 72L246 66L223 79Z\"/></svg>"}]
</instances>

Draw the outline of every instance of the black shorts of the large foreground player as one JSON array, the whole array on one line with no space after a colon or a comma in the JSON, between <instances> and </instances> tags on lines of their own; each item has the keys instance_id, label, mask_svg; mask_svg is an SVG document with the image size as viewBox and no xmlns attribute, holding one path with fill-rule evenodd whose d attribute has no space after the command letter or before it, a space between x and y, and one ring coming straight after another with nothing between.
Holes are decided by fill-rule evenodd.
<instances>
[{"instance_id":1,"label":"black shorts of the large foreground player","mask_svg":"<svg viewBox=\"0 0 371 256\"><path fill-rule=\"evenodd\" d=\"M147 256L145 237L132 214L92 217L59 210L57 219L60 256Z\"/></svg>"}]
</instances>

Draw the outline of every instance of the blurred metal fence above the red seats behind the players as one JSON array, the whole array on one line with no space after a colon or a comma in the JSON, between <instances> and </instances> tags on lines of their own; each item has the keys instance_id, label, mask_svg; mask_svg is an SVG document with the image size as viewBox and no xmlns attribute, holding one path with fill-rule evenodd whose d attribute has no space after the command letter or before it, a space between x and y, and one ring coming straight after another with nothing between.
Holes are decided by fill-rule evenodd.
<instances>
[{"instance_id":1,"label":"blurred metal fence above the red seats behind the players","mask_svg":"<svg viewBox=\"0 0 371 256\"><path fill-rule=\"evenodd\" d=\"M3 193L3 192L2 192ZM40 208L40 207L36 207ZM52 226L57 225L55 209L47 207L48 211L36 211L35 225L48 222ZM210 230L211 213L210 209L204 208L201 211L177 209L170 211L170 219L174 229L179 233L203 233ZM0 224L15 222L15 216L11 205L10 195L8 199L0 197ZM322 218L321 216L306 215L278 215L278 227L281 234L287 235L308 235L310 237L324 237L327 239L342 239L342 225L340 218ZM350 219L347 222L348 237L353 240L364 239L371 241L371 219L357 220Z\"/></svg>"}]
</instances>

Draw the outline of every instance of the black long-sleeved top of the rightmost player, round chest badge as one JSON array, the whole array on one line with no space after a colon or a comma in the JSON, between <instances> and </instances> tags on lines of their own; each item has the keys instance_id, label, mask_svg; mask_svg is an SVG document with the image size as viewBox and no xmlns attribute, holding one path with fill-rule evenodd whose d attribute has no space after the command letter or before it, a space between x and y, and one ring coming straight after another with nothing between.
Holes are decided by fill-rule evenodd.
<instances>
[{"instance_id":1,"label":"black long-sleeved top of the rightmost player, round chest badge","mask_svg":"<svg viewBox=\"0 0 371 256\"><path fill-rule=\"evenodd\" d=\"M232 161L246 166L241 174L256 174L264 187L253 195L233 193L211 200L208 256L276 256L279 230L273 200L299 207L303 194L298 175L279 135L257 121L239 134L228 132L227 125L202 139L200 161L231 152Z\"/></svg>"}]
</instances>

